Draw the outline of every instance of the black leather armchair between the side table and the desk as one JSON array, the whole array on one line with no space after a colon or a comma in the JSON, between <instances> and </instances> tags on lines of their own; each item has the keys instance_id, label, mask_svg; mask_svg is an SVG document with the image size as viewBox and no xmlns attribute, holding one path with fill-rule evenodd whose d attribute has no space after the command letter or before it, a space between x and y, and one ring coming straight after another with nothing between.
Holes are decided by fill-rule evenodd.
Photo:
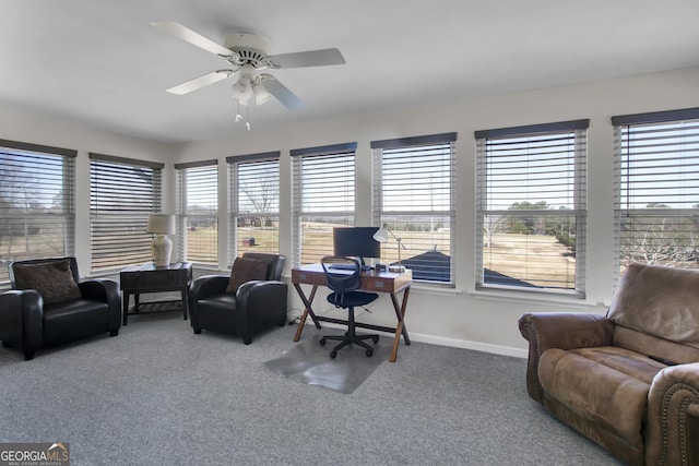
<instances>
[{"instance_id":1,"label":"black leather armchair between the side table and the desk","mask_svg":"<svg viewBox=\"0 0 699 466\"><path fill-rule=\"evenodd\" d=\"M189 315L196 334L202 328L242 337L252 336L286 323L286 283L281 282L286 258L281 254L246 252L242 258L268 263L266 279L244 283L226 292L228 275L205 275L189 286Z\"/></svg>"}]
</instances>

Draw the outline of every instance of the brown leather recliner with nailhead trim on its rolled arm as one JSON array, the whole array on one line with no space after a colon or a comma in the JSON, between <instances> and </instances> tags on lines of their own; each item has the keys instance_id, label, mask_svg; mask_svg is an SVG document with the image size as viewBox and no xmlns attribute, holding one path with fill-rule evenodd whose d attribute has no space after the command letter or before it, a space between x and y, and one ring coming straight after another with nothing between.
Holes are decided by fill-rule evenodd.
<instances>
[{"instance_id":1,"label":"brown leather recliner with nailhead trim on its rolled arm","mask_svg":"<svg viewBox=\"0 0 699 466\"><path fill-rule=\"evenodd\" d=\"M528 313L532 398L631 465L699 465L699 271L631 264L606 316Z\"/></svg>"}]
</instances>

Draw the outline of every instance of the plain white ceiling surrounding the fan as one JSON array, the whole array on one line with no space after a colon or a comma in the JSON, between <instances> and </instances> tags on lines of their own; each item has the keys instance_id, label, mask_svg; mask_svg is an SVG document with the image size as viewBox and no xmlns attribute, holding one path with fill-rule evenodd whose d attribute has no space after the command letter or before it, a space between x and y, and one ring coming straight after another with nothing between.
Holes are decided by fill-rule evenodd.
<instances>
[{"instance_id":1,"label":"plain white ceiling surrounding the fan","mask_svg":"<svg viewBox=\"0 0 699 466\"><path fill-rule=\"evenodd\" d=\"M305 106L252 107L252 131L699 65L697 0L0 0L0 106L171 143L246 131L232 80L165 92L226 62L154 20L342 51L275 70Z\"/></svg>"}]
</instances>

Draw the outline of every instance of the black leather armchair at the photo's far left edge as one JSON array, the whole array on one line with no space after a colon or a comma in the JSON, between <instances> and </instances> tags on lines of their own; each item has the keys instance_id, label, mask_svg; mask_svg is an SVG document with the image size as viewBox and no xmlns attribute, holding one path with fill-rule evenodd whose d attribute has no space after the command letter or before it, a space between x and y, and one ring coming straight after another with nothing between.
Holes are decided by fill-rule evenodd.
<instances>
[{"instance_id":1,"label":"black leather armchair at the photo's far left edge","mask_svg":"<svg viewBox=\"0 0 699 466\"><path fill-rule=\"evenodd\" d=\"M17 264L38 265L69 261L80 296L61 302L44 302L35 289L17 289ZM36 259L10 264L12 290L0 295L0 339L4 347L21 350L26 360L39 348L87 338L121 326L119 285L109 279L80 282L75 258Z\"/></svg>"}]
</instances>

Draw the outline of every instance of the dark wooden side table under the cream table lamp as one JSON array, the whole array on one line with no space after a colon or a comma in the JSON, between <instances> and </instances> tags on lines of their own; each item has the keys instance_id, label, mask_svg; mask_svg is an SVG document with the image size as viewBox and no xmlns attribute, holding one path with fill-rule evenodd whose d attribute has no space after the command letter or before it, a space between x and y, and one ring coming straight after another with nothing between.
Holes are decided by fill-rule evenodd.
<instances>
[{"instance_id":1,"label":"dark wooden side table under the cream table lamp","mask_svg":"<svg viewBox=\"0 0 699 466\"><path fill-rule=\"evenodd\" d=\"M123 325L129 316L129 300L134 296L134 307L132 314L146 313L140 307L152 303L140 303L139 295L142 292L180 291L182 299L182 314L187 320L187 291L189 283L192 280L192 263L178 262L166 267L156 267L153 263L143 265L132 265L121 271L119 282L121 286L123 301Z\"/></svg>"}]
</instances>

